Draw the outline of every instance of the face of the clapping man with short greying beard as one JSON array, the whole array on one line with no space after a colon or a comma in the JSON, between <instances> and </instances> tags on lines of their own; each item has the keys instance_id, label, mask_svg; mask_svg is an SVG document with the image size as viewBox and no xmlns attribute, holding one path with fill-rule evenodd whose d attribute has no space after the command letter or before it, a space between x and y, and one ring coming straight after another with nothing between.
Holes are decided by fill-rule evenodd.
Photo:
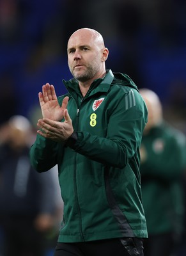
<instances>
[{"instance_id":1,"label":"face of the clapping man with short greying beard","mask_svg":"<svg viewBox=\"0 0 186 256\"><path fill-rule=\"evenodd\" d=\"M101 45L90 33L77 32L68 41L68 67L72 75L85 82L97 78L102 61Z\"/></svg>"}]
</instances>

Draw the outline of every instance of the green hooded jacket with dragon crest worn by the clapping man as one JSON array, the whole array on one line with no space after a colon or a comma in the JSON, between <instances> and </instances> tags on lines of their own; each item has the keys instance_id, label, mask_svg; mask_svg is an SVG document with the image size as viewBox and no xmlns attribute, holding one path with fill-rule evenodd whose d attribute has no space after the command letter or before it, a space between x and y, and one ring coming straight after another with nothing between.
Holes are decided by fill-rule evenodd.
<instances>
[{"instance_id":1,"label":"green hooded jacket with dragon crest worn by the clapping man","mask_svg":"<svg viewBox=\"0 0 186 256\"><path fill-rule=\"evenodd\" d=\"M38 172L58 164L64 201L58 241L146 237L139 146L147 109L136 85L109 70L82 99L75 79L63 83L77 141L65 147L38 135L30 150Z\"/></svg>"}]
</instances>

